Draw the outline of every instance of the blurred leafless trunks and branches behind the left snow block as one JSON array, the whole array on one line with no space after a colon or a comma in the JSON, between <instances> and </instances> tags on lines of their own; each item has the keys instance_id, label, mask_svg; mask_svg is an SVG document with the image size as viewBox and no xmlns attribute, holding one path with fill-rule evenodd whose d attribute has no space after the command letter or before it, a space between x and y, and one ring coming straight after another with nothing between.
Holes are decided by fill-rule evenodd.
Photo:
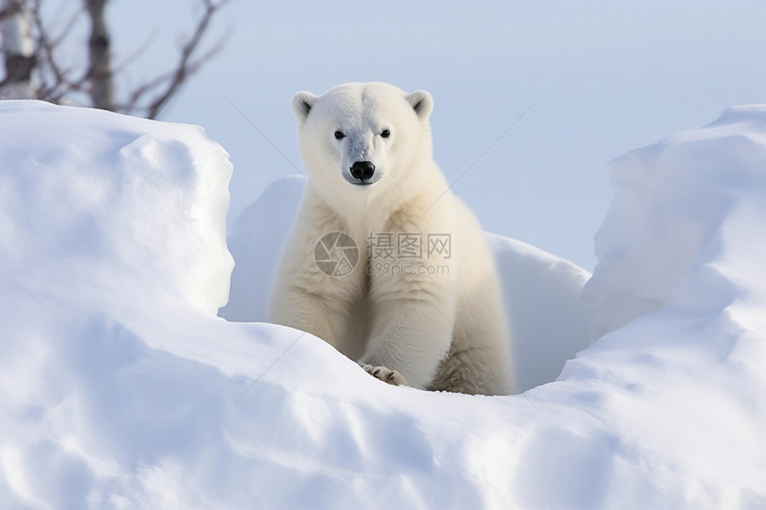
<instances>
[{"instance_id":1,"label":"blurred leafless trunks and branches behind the left snow block","mask_svg":"<svg viewBox=\"0 0 766 510\"><path fill-rule=\"evenodd\" d=\"M216 44L202 52L202 39L208 33L211 20L229 0L200 0L202 12L194 25L192 35L182 41L175 67L160 73L129 90L123 95L125 102L117 101L114 93L114 79L137 60L151 43L151 37L137 48L134 53L117 65L111 59L110 28L106 24L104 10L109 0L80 0L80 8L71 11L71 4L66 8L59 4L59 12L43 17L44 0L0 0L0 20L25 12L29 20L30 46L34 54L25 53L23 62L10 61L5 55L6 64L10 62L14 77L23 71L23 77L32 77L34 69L34 97L45 101L77 101L89 96L92 106L126 113L138 113L143 117L156 118L168 102L181 89L194 73L200 70L217 53L220 53L227 40L222 37ZM49 18L50 16L50 18ZM69 61L61 55L59 48L63 42L79 32L79 21L84 17L89 21L91 34L88 39L88 64ZM54 20L49 26L49 20ZM18 59L17 59L18 60ZM79 61L81 62L81 61ZM22 65L23 64L23 65ZM18 72L17 72L18 71ZM0 89L9 80L6 71ZM30 89L31 90L31 89ZM87 102L87 101L86 101Z\"/></svg>"}]
</instances>

